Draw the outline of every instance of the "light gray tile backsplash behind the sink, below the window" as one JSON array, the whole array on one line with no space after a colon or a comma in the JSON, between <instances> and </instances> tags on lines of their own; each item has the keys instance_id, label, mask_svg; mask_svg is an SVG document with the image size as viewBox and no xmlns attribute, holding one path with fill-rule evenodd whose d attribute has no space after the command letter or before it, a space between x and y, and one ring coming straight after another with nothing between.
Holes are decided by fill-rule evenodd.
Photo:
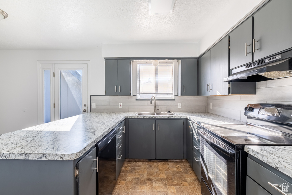
<instances>
[{"instance_id":1,"label":"light gray tile backsplash behind the sink, below the window","mask_svg":"<svg viewBox=\"0 0 292 195\"><path fill-rule=\"evenodd\" d=\"M96 108L92 108L95 103ZM123 108L119 108L119 103ZM178 108L178 103L182 108ZM175 100L157 100L157 112L206 112L206 96L175 96ZM136 100L136 96L91 96L91 112L153 112L150 100Z\"/></svg>"}]
</instances>

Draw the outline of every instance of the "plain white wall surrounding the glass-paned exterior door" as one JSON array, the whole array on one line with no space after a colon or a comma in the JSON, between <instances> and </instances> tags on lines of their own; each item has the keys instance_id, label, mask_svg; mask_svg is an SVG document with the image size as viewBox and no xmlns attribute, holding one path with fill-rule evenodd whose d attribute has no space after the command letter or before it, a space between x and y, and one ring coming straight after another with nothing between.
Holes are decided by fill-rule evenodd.
<instances>
[{"instance_id":1,"label":"plain white wall surrounding the glass-paned exterior door","mask_svg":"<svg viewBox=\"0 0 292 195\"><path fill-rule=\"evenodd\" d=\"M0 59L0 134L37 125L37 61L90 60L91 94L104 91L101 49L0 50Z\"/></svg>"}]
</instances>

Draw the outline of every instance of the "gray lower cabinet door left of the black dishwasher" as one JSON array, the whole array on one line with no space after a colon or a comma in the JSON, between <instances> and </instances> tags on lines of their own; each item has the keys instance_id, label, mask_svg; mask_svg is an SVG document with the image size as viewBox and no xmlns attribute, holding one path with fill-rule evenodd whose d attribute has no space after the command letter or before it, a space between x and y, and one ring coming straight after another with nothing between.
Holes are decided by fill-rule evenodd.
<instances>
[{"instance_id":1,"label":"gray lower cabinet door left of the black dishwasher","mask_svg":"<svg viewBox=\"0 0 292 195\"><path fill-rule=\"evenodd\" d=\"M78 195L96 195L96 148L92 149L78 163Z\"/></svg>"}]
</instances>

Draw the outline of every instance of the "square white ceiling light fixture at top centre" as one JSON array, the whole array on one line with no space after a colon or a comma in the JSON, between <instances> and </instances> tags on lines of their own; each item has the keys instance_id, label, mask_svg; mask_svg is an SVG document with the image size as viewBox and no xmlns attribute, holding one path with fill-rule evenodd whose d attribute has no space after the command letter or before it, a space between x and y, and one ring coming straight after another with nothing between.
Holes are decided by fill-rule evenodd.
<instances>
[{"instance_id":1,"label":"square white ceiling light fixture at top centre","mask_svg":"<svg viewBox=\"0 0 292 195\"><path fill-rule=\"evenodd\" d=\"M148 0L149 14L171 14L175 0Z\"/></svg>"}]
</instances>

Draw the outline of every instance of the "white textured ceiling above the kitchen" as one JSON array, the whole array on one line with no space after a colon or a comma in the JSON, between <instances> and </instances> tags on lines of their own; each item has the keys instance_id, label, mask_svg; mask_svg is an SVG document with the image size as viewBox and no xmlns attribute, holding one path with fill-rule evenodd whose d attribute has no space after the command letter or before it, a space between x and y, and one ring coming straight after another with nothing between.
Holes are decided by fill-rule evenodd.
<instances>
[{"instance_id":1,"label":"white textured ceiling above the kitchen","mask_svg":"<svg viewBox=\"0 0 292 195\"><path fill-rule=\"evenodd\" d=\"M172 14L149 15L148 0L0 0L0 49L197 43L234 1L175 0Z\"/></svg>"}]
</instances>

